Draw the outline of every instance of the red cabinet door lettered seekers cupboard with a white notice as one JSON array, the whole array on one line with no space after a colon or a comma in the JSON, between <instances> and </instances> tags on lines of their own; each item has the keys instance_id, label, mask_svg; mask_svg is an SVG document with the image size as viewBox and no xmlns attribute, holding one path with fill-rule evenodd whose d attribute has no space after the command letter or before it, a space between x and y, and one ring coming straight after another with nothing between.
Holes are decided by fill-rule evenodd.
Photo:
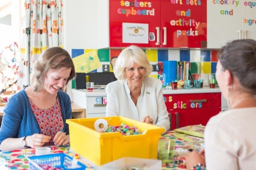
<instances>
[{"instance_id":1,"label":"red cabinet door lettered seekers cupboard with a white notice","mask_svg":"<svg viewBox=\"0 0 256 170\"><path fill-rule=\"evenodd\" d=\"M148 37L152 41L148 41L148 43L123 43L123 23L148 24ZM160 40L160 32L159 37L157 37L156 30L157 27L160 28L160 1L109 0L109 26L110 47L127 47L131 44L138 45L139 47L160 47L160 43L156 45L157 39L159 38ZM133 36L133 38L135 35L138 35L140 31L143 32L143 30L139 28L131 28L131 30L133 30L134 33L129 35ZM155 38L153 38L153 35Z\"/></svg>"}]
</instances>

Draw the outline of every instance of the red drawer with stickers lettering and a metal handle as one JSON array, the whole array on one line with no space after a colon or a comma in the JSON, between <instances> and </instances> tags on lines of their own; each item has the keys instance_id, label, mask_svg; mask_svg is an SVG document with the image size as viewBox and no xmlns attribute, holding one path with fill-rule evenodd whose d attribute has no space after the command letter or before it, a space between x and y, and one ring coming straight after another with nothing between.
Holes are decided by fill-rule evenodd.
<instances>
[{"instance_id":1,"label":"red drawer with stickers lettering and a metal handle","mask_svg":"<svg viewBox=\"0 0 256 170\"><path fill-rule=\"evenodd\" d=\"M221 93L173 94L171 109L199 109L221 107Z\"/></svg>"}]
</instances>

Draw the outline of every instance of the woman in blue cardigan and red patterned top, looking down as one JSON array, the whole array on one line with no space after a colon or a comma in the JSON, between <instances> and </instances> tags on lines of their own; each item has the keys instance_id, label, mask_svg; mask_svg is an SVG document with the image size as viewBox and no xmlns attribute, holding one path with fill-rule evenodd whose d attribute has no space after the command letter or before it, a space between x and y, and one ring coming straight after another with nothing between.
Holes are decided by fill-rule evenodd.
<instances>
[{"instance_id":1,"label":"woman in blue cardigan and red patterned top, looking down","mask_svg":"<svg viewBox=\"0 0 256 170\"><path fill-rule=\"evenodd\" d=\"M63 88L76 76L73 61L66 50L52 47L33 66L32 85L11 96L4 108L2 151L69 143L66 119L72 110Z\"/></svg>"}]
</instances>

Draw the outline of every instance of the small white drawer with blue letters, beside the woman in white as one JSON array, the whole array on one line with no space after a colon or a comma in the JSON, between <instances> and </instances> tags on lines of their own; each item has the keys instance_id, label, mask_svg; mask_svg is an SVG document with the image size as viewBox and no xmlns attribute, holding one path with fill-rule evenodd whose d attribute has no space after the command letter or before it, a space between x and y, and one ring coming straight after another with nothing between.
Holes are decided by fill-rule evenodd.
<instances>
[{"instance_id":1,"label":"small white drawer with blue letters, beside the woman in white","mask_svg":"<svg viewBox=\"0 0 256 170\"><path fill-rule=\"evenodd\" d=\"M91 113L106 113L107 96L101 97L88 97L87 108L88 114Z\"/></svg>"}]
</instances>

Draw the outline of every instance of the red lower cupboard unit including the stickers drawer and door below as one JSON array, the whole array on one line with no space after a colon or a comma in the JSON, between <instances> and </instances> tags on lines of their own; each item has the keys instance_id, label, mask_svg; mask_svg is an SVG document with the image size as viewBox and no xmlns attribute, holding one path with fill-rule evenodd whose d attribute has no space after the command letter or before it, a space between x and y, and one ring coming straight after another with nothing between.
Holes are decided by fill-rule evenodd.
<instances>
[{"instance_id":1,"label":"red lower cupboard unit including the stickers drawer and door below","mask_svg":"<svg viewBox=\"0 0 256 170\"><path fill-rule=\"evenodd\" d=\"M172 94L172 102L165 104L168 105L171 130L188 125L205 126L221 111L221 93Z\"/></svg>"}]
</instances>

